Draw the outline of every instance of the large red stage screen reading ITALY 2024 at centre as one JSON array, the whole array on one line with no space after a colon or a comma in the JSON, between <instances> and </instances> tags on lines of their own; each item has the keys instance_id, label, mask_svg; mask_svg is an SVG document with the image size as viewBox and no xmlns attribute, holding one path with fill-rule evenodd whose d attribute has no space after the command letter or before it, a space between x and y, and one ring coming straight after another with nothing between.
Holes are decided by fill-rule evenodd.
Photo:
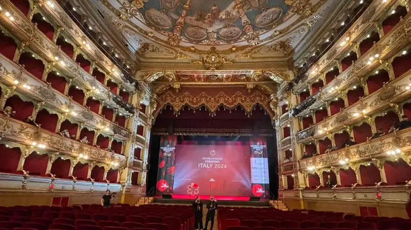
<instances>
[{"instance_id":1,"label":"large red stage screen reading ITALY 2024 at centre","mask_svg":"<svg viewBox=\"0 0 411 230\"><path fill-rule=\"evenodd\" d=\"M185 142L176 153L174 194L251 196L249 142Z\"/></svg>"}]
</instances>

